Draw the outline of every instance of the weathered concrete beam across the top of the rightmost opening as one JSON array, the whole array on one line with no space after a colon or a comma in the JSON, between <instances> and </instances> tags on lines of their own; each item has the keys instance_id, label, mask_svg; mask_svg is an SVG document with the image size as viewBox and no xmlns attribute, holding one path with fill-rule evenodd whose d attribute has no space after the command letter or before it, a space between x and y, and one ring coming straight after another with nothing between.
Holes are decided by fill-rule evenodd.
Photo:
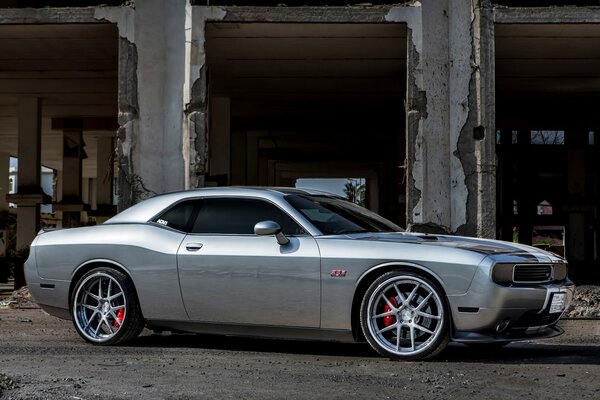
<instances>
[{"instance_id":1,"label":"weathered concrete beam across the top of the rightmost opening","mask_svg":"<svg viewBox=\"0 0 600 400\"><path fill-rule=\"evenodd\" d=\"M600 7L496 7L497 24L599 24Z\"/></svg>"}]
</instances>

